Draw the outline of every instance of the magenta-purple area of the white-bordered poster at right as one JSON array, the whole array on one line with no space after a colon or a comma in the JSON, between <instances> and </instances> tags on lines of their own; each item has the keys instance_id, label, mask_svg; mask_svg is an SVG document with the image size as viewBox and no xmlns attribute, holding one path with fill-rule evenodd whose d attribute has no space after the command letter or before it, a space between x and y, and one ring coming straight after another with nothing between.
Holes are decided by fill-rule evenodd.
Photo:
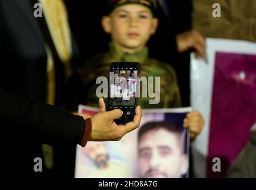
<instances>
[{"instance_id":1,"label":"magenta-purple area of the white-bordered poster at right","mask_svg":"<svg viewBox=\"0 0 256 190\"><path fill-rule=\"evenodd\" d=\"M256 121L256 55L216 52L207 177L225 177L250 138ZM212 169L213 158L221 160L221 172Z\"/></svg>"}]
</instances>

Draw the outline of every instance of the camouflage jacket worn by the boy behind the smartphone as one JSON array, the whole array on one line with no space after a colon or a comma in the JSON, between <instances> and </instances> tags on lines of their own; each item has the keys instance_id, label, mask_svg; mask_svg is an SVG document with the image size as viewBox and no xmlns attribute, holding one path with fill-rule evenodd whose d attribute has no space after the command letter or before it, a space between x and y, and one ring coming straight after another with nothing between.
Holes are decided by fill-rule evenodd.
<instances>
[{"instance_id":1,"label":"camouflage jacket worn by the boy behind the smartphone","mask_svg":"<svg viewBox=\"0 0 256 190\"><path fill-rule=\"evenodd\" d=\"M96 96L96 88L100 84L96 84L96 78L104 76L108 78L108 72L111 62L129 61L139 62L141 64L141 77L154 77L153 90L155 92L155 77L160 77L160 102L157 104L149 104L149 99L155 97L142 97L142 90L148 91L145 85L141 85L141 96L138 105L144 108L163 108L163 107L181 107L180 91L177 85L176 72L166 63L148 58L148 49L144 49L127 53L114 47L110 43L110 51L95 56L92 60L86 61L85 65L80 68L83 87L86 88L88 100L86 105L98 107L98 97ZM148 93L147 93L148 94Z\"/></svg>"}]
</instances>

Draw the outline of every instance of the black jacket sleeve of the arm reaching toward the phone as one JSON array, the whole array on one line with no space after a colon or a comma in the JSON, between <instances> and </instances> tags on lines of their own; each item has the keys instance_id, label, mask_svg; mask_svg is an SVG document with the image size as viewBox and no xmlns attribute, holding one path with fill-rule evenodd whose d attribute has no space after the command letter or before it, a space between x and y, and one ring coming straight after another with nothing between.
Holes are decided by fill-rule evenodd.
<instances>
[{"instance_id":1,"label":"black jacket sleeve of the arm reaching toward the phone","mask_svg":"<svg viewBox=\"0 0 256 190\"><path fill-rule=\"evenodd\" d=\"M15 133L24 135L24 138L27 134L34 135L41 143L49 145L79 144L85 131L85 121L81 116L35 102L28 96L16 96L1 88L0 124L5 126L10 137Z\"/></svg>"}]
</instances>

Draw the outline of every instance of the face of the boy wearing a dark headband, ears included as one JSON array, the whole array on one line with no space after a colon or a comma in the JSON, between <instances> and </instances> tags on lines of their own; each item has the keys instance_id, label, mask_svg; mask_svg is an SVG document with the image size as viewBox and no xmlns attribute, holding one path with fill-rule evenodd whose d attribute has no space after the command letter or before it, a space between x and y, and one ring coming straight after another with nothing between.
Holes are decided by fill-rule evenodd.
<instances>
[{"instance_id":1,"label":"face of the boy wearing a dark headband, ears included","mask_svg":"<svg viewBox=\"0 0 256 190\"><path fill-rule=\"evenodd\" d=\"M145 47L157 24L157 18L142 5L123 5L114 9L109 17L102 18L105 32L110 33L114 44L126 52Z\"/></svg>"}]
</instances>

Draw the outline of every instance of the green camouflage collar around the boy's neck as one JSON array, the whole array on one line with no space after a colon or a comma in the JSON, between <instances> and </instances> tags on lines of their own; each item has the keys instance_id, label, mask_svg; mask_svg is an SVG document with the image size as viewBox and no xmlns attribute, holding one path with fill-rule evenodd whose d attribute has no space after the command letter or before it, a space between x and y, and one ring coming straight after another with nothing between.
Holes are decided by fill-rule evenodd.
<instances>
[{"instance_id":1,"label":"green camouflage collar around the boy's neck","mask_svg":"<svg viewBox=\"0 0 256 190\"><path fill-rule=\"evenodd\" d=\"M114 46L114 43L110 42L110 53L113 58L117 61L135 61L143 63L148 59L148 48L144 47L142 50L133 53L127 53L118 47Z\"/></svg>"}]
</instances>

